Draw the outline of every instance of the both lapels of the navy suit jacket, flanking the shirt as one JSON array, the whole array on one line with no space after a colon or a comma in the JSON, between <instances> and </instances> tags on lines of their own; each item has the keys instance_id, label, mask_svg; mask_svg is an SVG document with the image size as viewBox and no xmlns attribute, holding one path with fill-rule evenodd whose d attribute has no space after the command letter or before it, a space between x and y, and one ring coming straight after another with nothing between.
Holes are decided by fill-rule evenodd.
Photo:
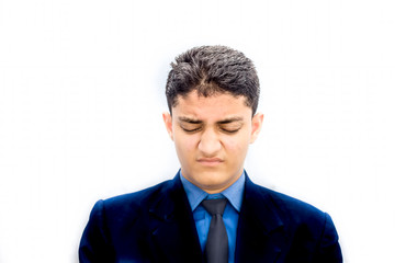
<instances>
[{"instance_id":1,"label":"both lapels of the navy suit jacket, flanking the shirt","mask_svg":"<svg viewBox=\"0 0 395 263\"><path fill-rule=\"evenodd\" d=\"M158 251L155 255L158 262L203 262L193 214L179 173L160 190L149 214L153 251ZM253 184L246 173L236 262L276 262L287 243L282 218L268 191Z\"/></svg>"}]
</instances>

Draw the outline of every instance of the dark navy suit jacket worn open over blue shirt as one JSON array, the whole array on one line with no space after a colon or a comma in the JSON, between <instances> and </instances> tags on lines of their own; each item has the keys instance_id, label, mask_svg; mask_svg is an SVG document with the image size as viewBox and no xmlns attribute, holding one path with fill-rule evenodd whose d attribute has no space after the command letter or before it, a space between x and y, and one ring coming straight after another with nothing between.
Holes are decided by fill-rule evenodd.
<instances>
[{"instance_id":1,"label":"dark navy suit jacket worn open over blue shirt","mask_svg":"<svg viewBox=\"0 0 395 263\"><path fill-rule=\"evenodd\" d=\"M180 175L154 187L99 201L79 248L80 262L202 263ZM246 176L236 262L342 262L329 215L253 184Z\"/></svg>"}]
</instances>

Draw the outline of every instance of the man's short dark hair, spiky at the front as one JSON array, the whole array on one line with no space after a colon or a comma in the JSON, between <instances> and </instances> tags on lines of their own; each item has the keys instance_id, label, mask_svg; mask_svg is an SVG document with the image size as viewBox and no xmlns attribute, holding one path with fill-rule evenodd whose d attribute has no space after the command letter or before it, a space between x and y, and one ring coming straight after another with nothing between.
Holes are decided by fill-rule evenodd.
<instances>
[{"instance_id":1,"label":"man's short dark hair, spiky at the front","mask_svg":"<svg viewBox=\"0 0 395 263\"><path fill-rule=\"evenodd\" d=\"M170 65L166 83L170 113L178 96L187 96L193 90L203 96L215 93L242 95L252 115L256 113L259 80L252 61L242 53L226 46L201 46L181 54Z\"/></svg>"}]
</instances>

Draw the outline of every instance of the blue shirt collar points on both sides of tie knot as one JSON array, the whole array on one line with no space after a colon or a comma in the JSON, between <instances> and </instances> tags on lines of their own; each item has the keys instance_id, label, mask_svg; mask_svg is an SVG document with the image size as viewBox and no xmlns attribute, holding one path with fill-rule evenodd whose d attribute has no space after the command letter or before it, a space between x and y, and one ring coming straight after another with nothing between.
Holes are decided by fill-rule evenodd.
<instances>
[{"instance_id":1,"label":"blue shirt collar points on both sides of tie knot","mask_svg":"<svg viewBox=\"0 0 395 263\"><path fill-rule=\"evenodd\" d=\"M192 211L196 209L199 204L205 199L208 194L198 187L196 185L192 184L190 181L188 181L180 171L180 179L181 183L185 190L188 201L191 205ZM246 173L242 172L241 176L233 183L229 187L221 192L222 195L224 195L232 206L237 210L240 211L241 209L241 202L242 202L242 193L245 188L245 182L246 182Z\"/></svg>"}]
</instances>

